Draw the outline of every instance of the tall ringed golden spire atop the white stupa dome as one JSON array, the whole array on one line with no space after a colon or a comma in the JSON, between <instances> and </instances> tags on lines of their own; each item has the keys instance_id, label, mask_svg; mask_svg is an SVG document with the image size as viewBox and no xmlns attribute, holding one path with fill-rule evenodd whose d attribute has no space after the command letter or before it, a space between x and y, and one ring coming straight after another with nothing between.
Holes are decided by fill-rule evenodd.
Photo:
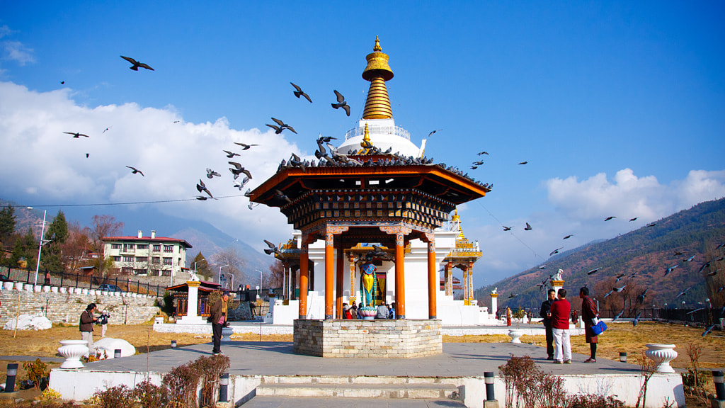
<instances>
[{"instance_id":1,"label":"tall ringed golden spire atop the white stupa dome","mask_svg":"<svg viewBox=\"0 0 725 408\"><path fill-rule=\"evenodd\" d=\"M383 53L378 36L375 37L373 52L365 57L368 66L363 71L363 79L370 81L368 99L365 100L363 119L390 119L393 110L390 107L390 98L385 81L393 78L393 71L388 65L388 55Z\"/></svg>"}]
</instances>

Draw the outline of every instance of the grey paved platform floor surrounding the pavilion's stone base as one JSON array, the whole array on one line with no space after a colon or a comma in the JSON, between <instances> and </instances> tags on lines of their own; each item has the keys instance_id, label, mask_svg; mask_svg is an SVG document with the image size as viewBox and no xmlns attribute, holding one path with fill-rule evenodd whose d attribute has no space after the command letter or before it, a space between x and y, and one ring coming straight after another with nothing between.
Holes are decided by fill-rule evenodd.
<instances>
[{"instance_id":1,"label":"grey paved platform floor surrounding the pavilion's stone base","mask_svg":"<svg viewBox=\"0 0 725 408\"><path fill-rule=\"evenodd\" d=\"M113 372L168 372L199 356L210 356L212 344L137 354L86 364L86 370ZM552 364L546 348L516 343L443 343L443 354L415 359L323 359L294 354L292 343L229 341L222 351L231 359L230 375L385 375L402 377L468 377L484 371L498 372L511 355L530 356L541 368L557 375L638 373L639 366L599 359L585 364L588 356L573 354L573 364Z\"/></svg>"}]
</instances>

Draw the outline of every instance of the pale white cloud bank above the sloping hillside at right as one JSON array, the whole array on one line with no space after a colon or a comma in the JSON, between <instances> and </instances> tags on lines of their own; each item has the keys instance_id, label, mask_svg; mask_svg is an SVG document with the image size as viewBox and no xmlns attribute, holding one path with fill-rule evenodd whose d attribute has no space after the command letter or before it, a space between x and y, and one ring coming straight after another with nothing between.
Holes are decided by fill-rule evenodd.
<instances>
[{"instance_id":1,"label":"pale white cloud bank above the sloping hillside at right","mask_svg":"<svg viewBox=\"0 0 725 408\"><path fill-rule=\"evenodd\" d=\"M483 285L483 279L496 282L544 263L557 248L564 247L563 252L592 240L616 237L697 203L725 197L725 171L692 170L684 179L660 184L655 176L636 176L624 168L612 180L600 173L581 181L570 176L543 184L552 209L536 211L525 219L502 220L513 226L511 232L503 232L492 217L486 226L466 224L462 213L467 237L478 239L484 251L474 268L476 285ZM608 216L617 218L604 221ZM629 221L635 217L637 220ZM525 222L534 229L524 232ZM563 240L568 234L573 237Z\"/></svg>"}]
</instances>

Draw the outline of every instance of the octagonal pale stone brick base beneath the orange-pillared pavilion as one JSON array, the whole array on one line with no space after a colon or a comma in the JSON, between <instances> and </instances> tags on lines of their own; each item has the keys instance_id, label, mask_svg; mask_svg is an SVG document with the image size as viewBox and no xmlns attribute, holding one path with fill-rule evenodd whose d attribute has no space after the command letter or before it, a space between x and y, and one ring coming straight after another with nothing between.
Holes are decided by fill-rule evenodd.
<instances>
[{"instance_id":1,"label":"octagonal pale stone brick base beneath the orange-pillared pavilion","mask_svg":"<svg viewBox=\"0 0 725 408\"><path fill-rule=\"evenodd\" d=\"M295 320L294 352L410 358L443 353L440 320Z\"/></svg>"}]
</instances>

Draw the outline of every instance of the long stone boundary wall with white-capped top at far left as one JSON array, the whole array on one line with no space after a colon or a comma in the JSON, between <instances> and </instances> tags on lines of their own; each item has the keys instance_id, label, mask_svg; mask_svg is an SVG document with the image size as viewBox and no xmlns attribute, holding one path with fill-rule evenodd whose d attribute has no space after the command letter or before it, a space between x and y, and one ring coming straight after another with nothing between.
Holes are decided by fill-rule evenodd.
<instances>
[{"instance_id":1,"label":"long stone boundary wall with white-capped top at far left","mask_svg":"<svg viewBox=\"0 0 725 408\"><path fill-rule=\"evenodd\" d=\"M19 284L15 284L17 286ZM111 315L109 325L137 325L148 322L159 311L157 298L147 295L125 292L101 292L80 288L77 290L58 287L33 287L22 285L29 290L12 290L3 286L0 290L0 322L4 325L15 317L20 306L20 314L38 314L47 317L53 323L78 325L80 314L88 303L96 303L97 313L107 310ZM46 290L46 291L43 291ZM64 290L64 292L61 292ZM47 311L46 311L47 305Z\"/></svg>"}]
</instances>

